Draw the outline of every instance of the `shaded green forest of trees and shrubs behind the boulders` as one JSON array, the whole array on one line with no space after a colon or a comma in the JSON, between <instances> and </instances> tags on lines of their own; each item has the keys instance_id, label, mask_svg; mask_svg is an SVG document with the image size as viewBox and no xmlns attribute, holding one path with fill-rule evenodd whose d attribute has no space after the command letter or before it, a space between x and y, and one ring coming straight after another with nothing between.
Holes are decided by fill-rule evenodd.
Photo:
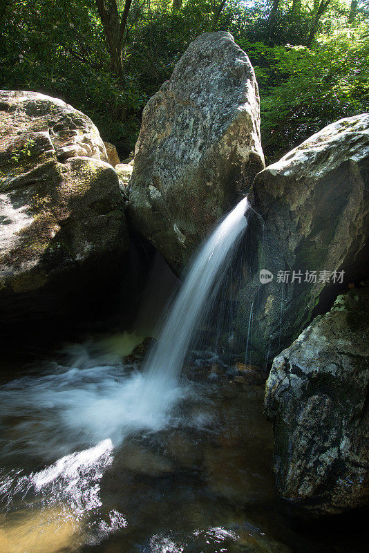
<instances>
[{"instance_id":1,"label":"shaded green forest of trees and shrubs behind the boulders","mask_svg":"<svg viewBox=\"0 0 369 553\"><path fill-rule=\"evenodd\" d=\"M368 21L369 0L0 0L0 88L60 97L123 159L191 40L229 30L256 71L272 162L369 111Z\"/></svg>"}]
</instances>

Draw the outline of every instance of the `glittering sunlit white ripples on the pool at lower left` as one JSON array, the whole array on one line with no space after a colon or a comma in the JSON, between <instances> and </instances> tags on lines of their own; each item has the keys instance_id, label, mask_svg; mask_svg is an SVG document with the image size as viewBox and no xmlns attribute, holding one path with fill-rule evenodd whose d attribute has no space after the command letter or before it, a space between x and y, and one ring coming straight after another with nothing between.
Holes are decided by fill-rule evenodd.
<instances>
[{"instance_id":1,"label":"glittering sunlit white ripples on the pool at lower left","mask_svg":"<svg viewBox=\"0 0 369 553\"><path fill-rule=\"evenodd\" d=\"M104 440L60 458L39 472L12 471L1 478L2 510L17 511L21 505L22 512L24 507L33 512L33 519L31 515L30 521L26 518L24 522L30 535L19 535L19 544L28 543L30 538L42 540L47 527L51 527L55 539L68 521L76 532L76 545L100 543L112 532L125 528L127 522L122 513L112 509L103 514L100 509L100 480L112 462L113 443ZM81 522L83 532L79 528L77 533ZM15 550L20 551L20 547L17 545Z\"/></svg>"}]
</instances>

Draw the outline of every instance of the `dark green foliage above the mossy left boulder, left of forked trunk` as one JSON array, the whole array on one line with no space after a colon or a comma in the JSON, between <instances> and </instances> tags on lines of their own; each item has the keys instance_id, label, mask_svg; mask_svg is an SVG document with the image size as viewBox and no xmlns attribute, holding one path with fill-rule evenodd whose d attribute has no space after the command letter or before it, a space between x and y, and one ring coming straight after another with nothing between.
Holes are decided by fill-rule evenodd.
<instances>
[{"instance_id":1,"label":"dark green foliage above the mossy left boulder, left of forked trunk","mask_svg":"<svg viewBox=\"0 0 369 553\"><path fill-rule=\"evenodd\" d=\"M14 0L1 28L2 88L60 97L89 115L106 140L132 147L144 91L129 71L118 83L108 70L93 0Z\"/></svg>"}]
</instances>

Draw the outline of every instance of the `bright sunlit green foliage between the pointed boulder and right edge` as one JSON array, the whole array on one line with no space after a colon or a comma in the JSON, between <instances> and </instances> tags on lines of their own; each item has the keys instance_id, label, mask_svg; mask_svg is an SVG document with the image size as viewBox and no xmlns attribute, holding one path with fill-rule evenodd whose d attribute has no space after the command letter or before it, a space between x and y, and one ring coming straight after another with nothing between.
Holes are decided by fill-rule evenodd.
<instances>
[{"instance_id":1,"label":"bright sunlit green foliage between the pointed boulder and right edge","mask_svg":"<svg viewBox=\"0 0 369 553\"><path fill-rule=\"evenodd\" d=\"M243 47L254 58L261 88L261 130L269 162L326 124L369 111L366 25L323 35L315 50L261 43Z\"/></svg>"}]
</instances>

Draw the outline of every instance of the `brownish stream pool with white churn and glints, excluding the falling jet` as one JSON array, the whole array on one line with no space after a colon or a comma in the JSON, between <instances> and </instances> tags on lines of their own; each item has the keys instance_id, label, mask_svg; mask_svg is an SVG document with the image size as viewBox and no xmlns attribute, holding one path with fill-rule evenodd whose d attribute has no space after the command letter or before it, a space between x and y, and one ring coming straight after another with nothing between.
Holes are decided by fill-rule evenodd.
<instances>
[{"instance_id":1,"label":"brownish stream pool with white churn and glints, excluding the falling jet","mask_svg":"<svg viewBox=\"0 0 369 553\"><path fill-rule=\"evenodd\" d=\"M1 553L366 550L359 515L303 525L276 497L260 384L202 361L165 420L120 424L115 391L140 379L140 357L122 355L139 341L115 335L4 364Z\"/></svg>"}]
</instances>

